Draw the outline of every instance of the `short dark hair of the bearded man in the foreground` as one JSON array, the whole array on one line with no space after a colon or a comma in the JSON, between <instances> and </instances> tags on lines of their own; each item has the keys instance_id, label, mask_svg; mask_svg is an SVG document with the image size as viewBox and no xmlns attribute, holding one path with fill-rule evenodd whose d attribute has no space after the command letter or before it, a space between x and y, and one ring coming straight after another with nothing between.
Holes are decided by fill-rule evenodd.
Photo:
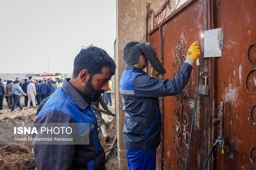
<instances>
[{"instance_id":1,"label":"short dark hair of the bearded man in the foreground","mask_svg":"<svg viewBox=\"0 0 256 170\"><path fill-rule=\"evenodd\" d=\"M84 69L88 70L88 73L93 77L94 74L101 74L104 66L110 68L111 76L115 74L116 64L108 53L104 49L90 45L81 49L76 56L73 77L76 78Z\"/></svg>"}]
</instances>

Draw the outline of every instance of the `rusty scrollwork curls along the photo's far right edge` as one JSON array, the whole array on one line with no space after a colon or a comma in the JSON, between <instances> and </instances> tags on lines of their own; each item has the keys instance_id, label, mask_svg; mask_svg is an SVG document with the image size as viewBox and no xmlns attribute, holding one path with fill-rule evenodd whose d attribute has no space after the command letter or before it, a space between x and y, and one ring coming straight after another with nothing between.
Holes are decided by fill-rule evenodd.
<instances>
[{"instance_id":1,"label":"rusty scrollwork curls along the photo's far right edge","mask_svg":"<svg viewBox=\"0 0 256 170\"><path fill-rule=\"evenodd\" d=\"M250 50L251 50L252 47L256 47L256 44L252 44L252 45L250 45L250 46L248 47L248 49L247 49L247 60L248 60L248 62L249 62L254 68L252 68L252 69L247 73L247 75L246 75L246 77L245 77L245 88L246 88L246 91L247 91L249 94L256 94L256 92L251 92L251 91L249 90L248 84L247 84L248 78L249 78L250 74L256 70L256 65L255 65L254 63L252 63L252 61L251 61L251 59L250 59ZM252 52L253 52L253 53L256 53L256 50L253 49ZM256 81L256 80L255 80L255 78L254 78L254 84L256 83L255 81ZM255 85L255 86L256 86L256 85ZM254 126L256 126L256 123L255 123L255 121L254 121L254 119L253 119L253 115L252 115L252 112L253 112L253 110L254 110L254 107L256 107L256 104L254 104L254 105L251 107L251 109L250 109L250 119L251 119L251 121L252 121L252 124L253 124ZM250 151L249 151L249 157L250 157L250 162L251 162L252 166L253 166L254 168L256 168L256 165L255 165L255 163L254 163L254 161L253 161L253 157L252 157L252 150L254 150L254 149L256 149L256 146L251 147L251 149L250 149Z\"/></svg>"}]
</instances>

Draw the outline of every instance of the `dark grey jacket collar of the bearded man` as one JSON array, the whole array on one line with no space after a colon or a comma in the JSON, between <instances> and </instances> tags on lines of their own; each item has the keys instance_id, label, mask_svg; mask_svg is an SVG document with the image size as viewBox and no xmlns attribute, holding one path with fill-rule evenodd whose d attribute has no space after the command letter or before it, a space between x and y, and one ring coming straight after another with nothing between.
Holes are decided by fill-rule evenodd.
<instances>
[{"instance_id":1,"label":"dark grey jacket collar of the bearded man","mask_svg":"<svg viewBox=\"0 0 256 170\"><path fill-rule=\"evenodd\" d=\"M87 106L89 106L88 103L90 103L89 100L86 100L87 98L85 96L82 96L82 94L74 88L69 83L70 78L66 78L63 82L62 89L68 96L75 102L75 104L80 107L81 109L85 109Z\"/></svg>"}]
</instances>

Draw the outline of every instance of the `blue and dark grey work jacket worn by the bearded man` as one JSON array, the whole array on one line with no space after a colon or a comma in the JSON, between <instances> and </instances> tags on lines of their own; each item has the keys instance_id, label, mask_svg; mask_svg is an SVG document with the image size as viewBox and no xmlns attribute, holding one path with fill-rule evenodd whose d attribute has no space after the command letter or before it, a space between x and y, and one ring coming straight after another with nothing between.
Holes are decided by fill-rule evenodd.
<instances>
[{"instance_id":1,"label":"blue and dark grey work jacket worn by the bearded man","mask_svg":"<svg viewBox=\"0 0 256 170\"><path fill-rule=\"evenodd\" d=\"M89 104L90 101L86 100L69 83L69 80L70 78L66 78L63 86L51 95L34 123L89 123L90 127L93 127L89 132L90 143L89 145L34 145L33 143L36 167L38 170L105 170L105 152L98 138L95 113Z\"/></svg>"}]
</instances>

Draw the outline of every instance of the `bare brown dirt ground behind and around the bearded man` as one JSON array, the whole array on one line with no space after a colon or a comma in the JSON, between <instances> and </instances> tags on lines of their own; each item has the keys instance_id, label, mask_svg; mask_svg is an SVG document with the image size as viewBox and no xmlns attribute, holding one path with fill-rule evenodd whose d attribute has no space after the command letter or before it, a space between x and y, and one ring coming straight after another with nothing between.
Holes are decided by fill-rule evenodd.
<instances>
[{"instance_id":1,"label":"bare brown dirt ground behind and around the bearded man","mask_svg":"<svg viewBox=\"0 0 256 170\"><path fill-rule=\"evenodd\" d=\"M21 96L20 102L24 105L24 96ZM38 106L38 105L37 105ZM112 96L112 106L108 106L109 110L114 113L114 96ZM6 110L5 113L0 114L0 123L32 123L36 114L36 109L27 108L23 111L20 111L19 108L16 108L16 112L10 112L10 109L7 106L6 99L4 98L3 109ZM102 109L102 107L101 107ZM109 127L107 130L108 135L110 136L110 141L107 143L104 142L104 137L100 131L99 139L101 141L102 147L104 150L110 148L114 137L116 135L116 123L112 116L102 113L102 117L105 121L109 122ZM4 132L4 129L0 129L0 132ZM107 153L107 152L106 152ZM118 170L117 162L117 149L114 148L106 161L106 170ZM0 145L0 170L35 170L36 162L34 159L34 152L32 145L25 145L24 148L22 145Z\"/></svg>"}]
</instances>

